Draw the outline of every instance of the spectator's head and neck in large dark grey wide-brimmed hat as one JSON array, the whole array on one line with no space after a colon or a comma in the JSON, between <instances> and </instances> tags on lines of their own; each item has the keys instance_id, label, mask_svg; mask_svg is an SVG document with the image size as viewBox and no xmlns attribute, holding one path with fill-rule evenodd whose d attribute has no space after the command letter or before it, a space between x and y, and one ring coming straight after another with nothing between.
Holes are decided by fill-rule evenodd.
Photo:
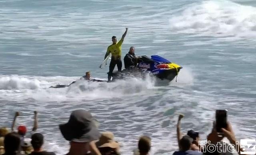
<instances>
[{"instance_id":1,"label":"spectator's head and neck in large dark grey wide-brimmed hat","mask_svg":"<svg viewBox=\"0 0 256 155\"><path fill-rule=\"evenodd\" d=\"M59 127L63 137L71 141L71 148L88 149L89 142L100 137L96 120L90 112L82 109L73 111L68 123L60 124Z\"/></svg>"}]
</instances>

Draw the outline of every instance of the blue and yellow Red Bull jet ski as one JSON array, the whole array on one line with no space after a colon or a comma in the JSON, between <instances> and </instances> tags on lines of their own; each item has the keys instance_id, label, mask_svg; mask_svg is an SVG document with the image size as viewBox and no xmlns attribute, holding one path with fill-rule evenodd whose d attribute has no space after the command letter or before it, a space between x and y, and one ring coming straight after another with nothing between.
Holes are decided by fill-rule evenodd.
<instances>
[{"instance_id":1,"label":"blue and yellow Red Bull jet ski","mask_svg":"<svg viewBox=\"0 0 256 155\"><path fill-rule=\"evenodd\" d=\"M145 77L145 75L149 74L158 77L161 80L168 80L170 82L177 77L180 69L182 69L181 66L171 63L158 55L151 55L151 58L146 55L139 56L138 62L137 66L130 66L128 69L124 69L121 72L113 72L112 80L122 79L129 76Z\"/></svg>"}]
</instances>

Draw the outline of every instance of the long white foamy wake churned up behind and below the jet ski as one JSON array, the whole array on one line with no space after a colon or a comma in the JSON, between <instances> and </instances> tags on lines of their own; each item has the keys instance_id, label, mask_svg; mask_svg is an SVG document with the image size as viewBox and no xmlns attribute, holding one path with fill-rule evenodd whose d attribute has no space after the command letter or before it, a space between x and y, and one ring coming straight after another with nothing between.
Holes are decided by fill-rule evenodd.
<instances>
[{"instance_id":1,"label":"long white foamy wake churned up behind and below the jet ski","mask_svg":"<svg viewBox=\"0 0 256 155\"><path fill-rule=\"evenodd\" d=\"M49 88L56 84L70 84L66 88ZM99 98L120 98L122 96L146 93L146 90L154 88L154 79L127 78L117 82L87 82L79 80L79 77L29 77L29 76L1 76L0 91L4 99L9 100L33 98L40 101L65 101ZM5 93L6 92L6 93ZM12 93L10 93L12 92ZM17 93L19 94L18 96Z\"/></svg>"}]
</instances>

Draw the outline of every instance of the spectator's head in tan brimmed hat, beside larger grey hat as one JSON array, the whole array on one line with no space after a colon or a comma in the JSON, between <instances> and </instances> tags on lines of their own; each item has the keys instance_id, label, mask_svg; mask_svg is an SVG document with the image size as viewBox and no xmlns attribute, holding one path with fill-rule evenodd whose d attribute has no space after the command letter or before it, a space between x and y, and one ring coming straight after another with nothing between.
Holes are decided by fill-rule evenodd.
<instances>
[{"instance_id":1,"label":"spectator's head in tan brimmed hat, beside larger grey hat","mask_svg":"<svg viewBox=\"0 0 256 155\"><path fill-rule=\"evenodd\" d=\"M111 155L119 151L119 144L114 141L114 134L112 132L102 132L100 139L95 144L102 155Z\"/></svg>"}]
</instances>

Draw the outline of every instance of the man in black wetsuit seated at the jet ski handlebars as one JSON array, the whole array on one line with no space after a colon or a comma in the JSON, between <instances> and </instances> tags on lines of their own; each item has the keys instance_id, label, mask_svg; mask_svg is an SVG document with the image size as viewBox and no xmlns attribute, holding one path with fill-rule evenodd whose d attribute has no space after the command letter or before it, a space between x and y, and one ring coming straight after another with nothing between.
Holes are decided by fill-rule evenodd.
<instances>
[{"instance_id":1,"label":"man in black wetsuit seated at the jet ski handlebars","mask_svg":"<svg viewBox=\"0 0 256 155\"><path fill-rule=\"evenodd\" d=\"M138 56L134 53L135 48L130 47L129 52L124 57L124 68L128 69L130 66L137 66Z\"/></svg>"}]
</instances>

